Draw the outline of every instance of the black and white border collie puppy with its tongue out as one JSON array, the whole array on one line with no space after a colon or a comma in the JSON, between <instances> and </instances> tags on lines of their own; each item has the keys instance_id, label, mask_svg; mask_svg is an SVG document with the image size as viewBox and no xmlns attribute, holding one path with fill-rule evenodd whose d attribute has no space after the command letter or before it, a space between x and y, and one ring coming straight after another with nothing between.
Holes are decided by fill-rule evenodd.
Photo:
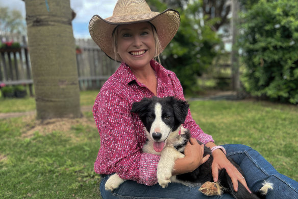
<instances>
[{"instance_id":1,"label":"black and white border collie puppy with its tongue out","mask_svg":"<svg viewBox=\"0 0 298 199\"><path fill-rule=\"evenodd\" d=\"M218 182L214 183L211 173L213 161L210 148L204 147L204 157L210 154L210 158L190 173L173 175L172 170L177 159L184 157L184 148L191 135L188 129L183 128L182 124L188 113L188 103L174 97L166 98L143 98L140 102L133 103L131 112L138 114L143 122L147 142L142 150L146 153L160 155L157 166L157 179L162 188L167 187L168 183L181 183L186 186L198 186L199 190L205 195L221 195L223 192L230 193L234 198L259 198L250 193L238 182L238 191L235 192L232 180L225 168L219 170ZM202 144L200 141L197 141ZM229 157L228 160L244 176L240 167ZM119 178L115 173L111 175L105 184L106 190L114 190L125 180ZM265 188L266 187L266 188ZM265 195L268 189L272 189L270 183L262 187Z\"/></svg>"}]
</instances>

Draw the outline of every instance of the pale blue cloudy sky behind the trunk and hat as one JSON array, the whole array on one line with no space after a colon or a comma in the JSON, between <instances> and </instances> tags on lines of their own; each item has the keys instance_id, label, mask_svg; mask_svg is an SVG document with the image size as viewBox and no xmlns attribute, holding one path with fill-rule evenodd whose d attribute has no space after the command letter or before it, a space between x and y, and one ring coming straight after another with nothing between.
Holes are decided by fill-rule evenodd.
<instances>
[{"instance_id":1,"label":"pale blue cloudy sky behind the trunk and hat","mask_svg":"<svg viewBox=\"0 0 298 199\"><path fill-rule=\"evenodd\" d=\"M44 2L46 1L51 0L44 0ZM116 2L117 0L70 0L70 8L77 13L76 18L72 20L74 37L91 38L88 24L92 16L95 14L100 15L102 18L112 16ZM18 10L21 12L23 18L26 18L25 3L21 0L0 0L0 7Z\"/></svg>"}]
</instances>

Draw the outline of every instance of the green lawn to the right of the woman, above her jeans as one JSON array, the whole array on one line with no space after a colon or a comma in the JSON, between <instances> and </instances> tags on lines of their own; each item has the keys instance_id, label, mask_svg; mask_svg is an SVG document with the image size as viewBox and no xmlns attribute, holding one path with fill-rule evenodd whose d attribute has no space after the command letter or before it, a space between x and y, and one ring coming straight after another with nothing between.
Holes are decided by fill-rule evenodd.
<instances>
[{"instance_id":1,"label":"green lawn to the right of the woman, above her jeans","mask_svg":"<svg viewBox=\"0 0 298 199\"><path fill-rule=\"evenodd\" d=\"M253 101L195 101L192 117L215 143L244 144L298 181L297 106Z\"/></svg>"}]
</instances>

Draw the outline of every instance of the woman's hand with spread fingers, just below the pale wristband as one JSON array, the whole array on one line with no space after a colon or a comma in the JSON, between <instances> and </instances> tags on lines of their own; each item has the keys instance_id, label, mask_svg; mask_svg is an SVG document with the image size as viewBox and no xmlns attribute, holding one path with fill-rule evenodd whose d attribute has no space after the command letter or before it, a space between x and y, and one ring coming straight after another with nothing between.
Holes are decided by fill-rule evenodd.
<instances>
[{"instance_id":1,"label":"woman's hand with spread fingers, just below the pale wristband","mask_svg":"<svg viewBox=\"0 0 298 199\"><path fill-rule=\"evenodd\" d=\"M249 187L247 187L246 181L243 178L242 174L238 171L238 169L227 159L225 154L220 150L216 149L212 153L213 162L212 162L212 176L213 181L217 182L218 180L218 170L225 168L227 170L228 175L232 179L234 190L238 191L238 181L249 191Z\"/></svg>"}]
</instances>

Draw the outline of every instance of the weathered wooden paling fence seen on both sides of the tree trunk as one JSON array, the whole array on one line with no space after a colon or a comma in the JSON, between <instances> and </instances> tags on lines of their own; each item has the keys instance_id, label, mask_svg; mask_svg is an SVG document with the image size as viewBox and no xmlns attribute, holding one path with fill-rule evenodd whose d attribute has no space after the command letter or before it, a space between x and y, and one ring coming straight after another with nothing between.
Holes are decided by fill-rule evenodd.
<instances>
[{"instance_id":1,"label":"weathered wooden paling fence seen on both sides of the tree trunk","mask_svg":"<svg viewBox=\"0 0 298 199\"><path fill-rule=\"evenodd\" d=\"M0 36L0 39L3 38ZM0 84L29 86L33 96L33 79L26 37L9 38L19 42L18 49L0 49ZM5 39L9 41L9 39ZM119 63L108 58L92 39L76 39L78 81L81 90L99 89L116 71Z\"/></svg>"}]
</instances>

